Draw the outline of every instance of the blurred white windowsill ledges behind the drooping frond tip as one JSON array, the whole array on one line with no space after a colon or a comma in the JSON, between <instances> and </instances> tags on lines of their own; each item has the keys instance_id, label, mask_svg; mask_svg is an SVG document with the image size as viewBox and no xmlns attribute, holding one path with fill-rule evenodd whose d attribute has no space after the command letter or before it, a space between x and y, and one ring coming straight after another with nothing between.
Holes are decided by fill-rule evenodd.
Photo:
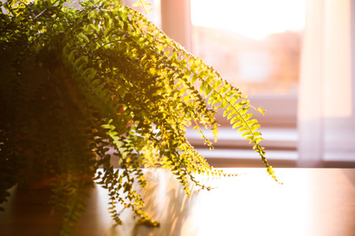
<instances>
[{"instance_id":1,"label":"blurred white windowsill ledges behind the drooping frond tip","mask_svg":"<svg viewBox=\"0 0 355 236\"><path fill-rule=\"evenodd\" d=\"M264 140L261 144L266 148L269 164L279 167L295 167L299 155L297 152L298 134L296 128L260 128ZM212 133L205 135L213 140ZM209 150L200 139L197 130L188 129L188 141L207 161L215 167L262 167L259 154L253 152L252 144L240 136L236 130L221 127L218 142L214 150Z\"/></svg>"}]
</instances>

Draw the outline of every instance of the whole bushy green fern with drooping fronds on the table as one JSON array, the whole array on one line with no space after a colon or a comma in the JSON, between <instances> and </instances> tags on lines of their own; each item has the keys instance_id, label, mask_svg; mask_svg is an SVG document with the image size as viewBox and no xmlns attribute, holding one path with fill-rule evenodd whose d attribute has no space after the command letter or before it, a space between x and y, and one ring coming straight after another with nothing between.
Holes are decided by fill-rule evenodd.
<instances>
[{"instance_id":1,"label":"whole bushy green fern with drooping fronds on the table","mask_svg":"<svg viewBox=\"0 0 355 236\"><path fill-rule=\"evenodd\" d=\"M134 182L145 188L143 168L167 168L189 195L190 182L210 189L196 173L227 176L185 137L192 125L212 149L204 130L217 139L218 109L254 143L278 182L246 95L119 1L81 5L1 4L0 203L16 183L50 186L50 202L66 212L60 232L67 234L96 181L107 189L118 224L116 205L122 204L139 223L157 226L143 211Z\"/></svg>"}]
</instances>

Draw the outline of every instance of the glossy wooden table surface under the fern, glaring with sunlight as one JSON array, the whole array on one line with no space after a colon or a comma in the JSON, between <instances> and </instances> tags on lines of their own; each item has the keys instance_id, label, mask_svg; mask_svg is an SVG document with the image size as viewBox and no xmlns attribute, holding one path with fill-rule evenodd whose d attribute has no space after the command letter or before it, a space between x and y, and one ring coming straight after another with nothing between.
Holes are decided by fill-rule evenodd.
<instances>
[{"instance_id":1,"label":"glossy wooden table surface under the fern, glaring with sunlight","mask_svg":"<svg viewBox=\"0 0 355 236\"><path fill-rule=\"evenodd\" d=\"M217 188L195 188L190 197L170 172L147 171L142 196L159 228L137 225L127 210L124 224L114 227L106 190L96 186L73 235L355 235L355 169L275 168L283 185L265 169L224 170L246 174L200 177ZM12 193L0 211L0 235L56 235L49 206L29 202L24 191Z\"/></svg>"}]
</instances>

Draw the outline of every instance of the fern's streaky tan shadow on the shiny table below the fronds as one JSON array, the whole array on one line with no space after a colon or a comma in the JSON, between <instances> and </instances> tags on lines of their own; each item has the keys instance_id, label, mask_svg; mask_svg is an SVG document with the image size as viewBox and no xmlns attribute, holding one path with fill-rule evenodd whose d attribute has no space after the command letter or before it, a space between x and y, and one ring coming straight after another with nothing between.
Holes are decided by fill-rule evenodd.
<instances>
[{"instance_id":1,"label":"fern's streaky tan shadow on the shiny table below the fronds","mask_svg":"<svg viewBox=\"0 0 355 236\"><path fill-rule=\"evenodd\" d=\"M192 228L192 219L188 218L190 212L193 211L192 206L195 204L192 202L196 201L198 191L193 185L190 187L192 195L188 197L176 177L169 171L148 172L147 190L141 194L146 202L145 211L149 216L159 221L160 226L148 228L136 224L129 235L175 236L184 235L184 229L198 234L198 229L194 231Z\"/></svg>"}]
</instances>

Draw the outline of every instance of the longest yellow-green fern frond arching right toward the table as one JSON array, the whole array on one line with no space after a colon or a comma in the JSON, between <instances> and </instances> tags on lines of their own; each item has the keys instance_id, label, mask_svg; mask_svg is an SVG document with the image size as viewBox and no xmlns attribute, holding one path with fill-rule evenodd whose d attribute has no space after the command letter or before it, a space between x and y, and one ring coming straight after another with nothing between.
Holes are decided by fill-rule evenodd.
<instances>
[{"instance_id":1,"label":"longest yellow-green fern frond arching right toward the table","mask_svg":"<svg viewBox=\"0 0 355 236\"><path fill-rule=\"evenodd\" d=\"M249 140L249 143L255 143L254 149L259 153L262 162L264 162L267 168L267 172L269 172L269 175L273 179L279 182L265 157L264 148L259 145L262 140L260 137L261 133L257 132L259 124L256 123L256 120L249 120L252 115L252 113L248 113L249 108L254 107L249 103L247 97L239 92L238 88L223 80L213 67L205 64L202 59L189 54L182 46L168 39L164 33L154 25L151 25L143 16L137 13L131 14L137 15L136 17L140 21L139 24L149 25L147 27L147 34L154 34L155 38L157 38L155 43L158 42L153 44L156 46L153 51L160 49L160 52L166 55L165 59L169 62L167 65L168 70L176 74L188 74L188 78L181 76L179 79L184 81L185 85L189 86L190 89L190 84L200 83L198 84L199 93L204 93L208 97L208 103L212 104L214 110L218 108L225 109L224 116L227 116L228 120L233 120L233 125L237 123L234 125L234 128L238 128L238 132L249 132L249 135L244 135L244 137ZM151 30L149 31L149 29ZM141 32L143 34L143 30ZM167 54L171 56L167 56ZM257 111L262 113L260 109ZM208 113L208 110L205 108L204 112Z\"/></svg>"}]
</instances>

